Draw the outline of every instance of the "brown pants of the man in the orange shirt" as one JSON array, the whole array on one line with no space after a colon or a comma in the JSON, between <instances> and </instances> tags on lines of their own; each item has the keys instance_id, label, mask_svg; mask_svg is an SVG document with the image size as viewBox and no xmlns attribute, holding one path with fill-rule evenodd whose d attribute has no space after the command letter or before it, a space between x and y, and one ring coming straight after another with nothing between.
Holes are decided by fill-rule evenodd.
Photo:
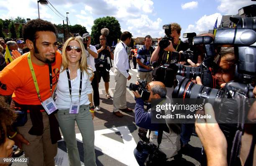
<instances>
[{"instance_id":1,"label":"brown pants of the man in the orange shirt","mask_svg":"<svg viewBox=\"0 0 256 166\"><path fill-rule=\"evenodd\" d=\"M50 124L46 112L43 114L43 135L31 135L28 131L32 127L30 114L24 126L18 127L18 132L29 141L30 145L22 144L25 157L29 158L28 166L55 166L54 157L57 155L57 143L51 144Z\"/></svg>"}]
</instances>

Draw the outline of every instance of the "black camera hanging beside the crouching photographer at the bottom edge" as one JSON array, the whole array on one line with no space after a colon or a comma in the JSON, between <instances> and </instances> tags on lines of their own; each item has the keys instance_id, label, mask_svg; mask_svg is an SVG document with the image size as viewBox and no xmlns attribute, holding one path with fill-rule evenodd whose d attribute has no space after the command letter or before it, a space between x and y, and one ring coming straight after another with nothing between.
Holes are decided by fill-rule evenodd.
<instances>
[{"instance_id":1,"label":"black camera hanging beside the crouching photographer at the bottom edge","mask_svg":"<svg viewBox=\"0 0 256 166\"><path fill-rule=\"evenodd\" d=\"M140 140L136 149L138 152L142 152L143 149L148 151L148 157L144 163L145 166L158 166L167 159L166 154L153 143L147 143Z\"/></svg>"}]
</instances>

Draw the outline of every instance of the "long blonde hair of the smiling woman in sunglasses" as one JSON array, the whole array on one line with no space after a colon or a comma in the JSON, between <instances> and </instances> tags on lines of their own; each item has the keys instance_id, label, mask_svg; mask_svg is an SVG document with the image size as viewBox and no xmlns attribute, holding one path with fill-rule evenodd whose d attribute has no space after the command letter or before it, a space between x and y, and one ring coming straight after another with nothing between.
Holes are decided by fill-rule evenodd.
<instances>
[{"instance_id":1,"label":"long blonde hair of the smiling woman in sunglasses","mask_svg":"<svg viewBox=\"0 0 256 166\"><path fill-rule=\"evenodd\" d=\"M89 72L88 70L91 70L90 68L88 68L87 66L87 52L85 51L84 49L84 44L82 43L81 40L77 39L77 38L74 38L74 37L71 37L69 38L65 43L64 43L64 46L63 46L63 50L62 50L62 63L61 63L61 66L63 67L62 71L63 72L64 70L66 70L69 66L69 60L67 59L67 51L66 51L66 48L69 44L70 41L77 41L81 47L81 50L82 50L82 53L81 53L81 59L79 60L79 69L82 71L82 72L86 72L88 75Z\"/></svg>"}]
</instances>

